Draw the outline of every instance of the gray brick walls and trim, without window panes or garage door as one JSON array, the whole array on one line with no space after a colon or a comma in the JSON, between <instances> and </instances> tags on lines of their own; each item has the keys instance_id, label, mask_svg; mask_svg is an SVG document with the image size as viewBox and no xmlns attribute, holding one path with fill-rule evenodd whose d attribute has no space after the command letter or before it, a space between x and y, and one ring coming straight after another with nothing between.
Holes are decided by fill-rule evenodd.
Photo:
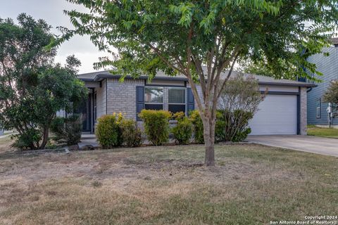
<instances>
[{"instance_id":1,"label":"gray brick walls and trim, without window panes or garage door","mask_svg":"<svg viewBox=\"0 0 338 225\"><path fill-rule=\"evenodd\" d=\"M101 77L99 77L101 76ZM92 78L89 78L92 77ZM86 82L86 86L92 89L91 94L89 97L92 98L90 108L93 110L95 109L96 103L96 111L92 111L92 115L95 115L96 118L101 117L102 115L111 115L113 113L123 113L123 115L132 120L137 119L137 107L139 110L142 109L142 104L144 105L144 101L139 100L137 98L137 91L138 94L142 94L142 89L137 89L137 86L161 86L163 87L163 110L168 110L168 94L170 87L187 87L190 88L189 83L180 78L175 77L177 79L154 79L151 83L149 83L144 77L139 77L139 79L132 79L132 77L127 77L124 82L119 82L119 77L112 78L112 75L97 72L93 74L84 74L82 75L82 79ZM306 135L306 128L307 128L307 115L306 111L308 110L308 103L307 101L307 86L306 83L296 82L296 81L289 81L289 80L280 80L280 82L276 82L275 79L262 77L256 75L258 82L260 82L260 89L261 91L265 91L268 88L268 91L271 91L271 94L283 95L282 92L285 92L287 95L296 95L299 93L299 117L297 120L297 124L299 124L299 134ZM273 83L276 83L274 85ZM281 84L280 84L281 83ZM290 85L289 85L290 84ZM299 84L299 85L298 85ZM306 85L304 85L306 84ZM202 96L201 86L197 86L197 92L199 96ZM293 94L294 93L294 94ZM96 101L95 99L96 94ZM189 90L186 92L186 97L191 96L191 92ZM189 98L192 99L192 98ZM137 102L138 101L138 102ZM201 101L203 102L203 98L201 97ZM141 102L141 103L140 103ZM190 100L190 103L191 100ZM195 107L198 108L196 101ZM140 106L141 105L141 106ZM143 106L144 107L144 106ZM192 104L187 103L187 107L192 109ZM94 121L94 117L91 116L92 121ZM295 118L293 118L294 120ZM292 124L296 124L296 120L293 123L293 120L290 120ZM140 127L142 127L142 122L137 122ZM92 124L95 124L92 123ZM256 124L257 125L257 124ZM259 124L257 125L259 126Z\"/></svg>"}]
</instances>

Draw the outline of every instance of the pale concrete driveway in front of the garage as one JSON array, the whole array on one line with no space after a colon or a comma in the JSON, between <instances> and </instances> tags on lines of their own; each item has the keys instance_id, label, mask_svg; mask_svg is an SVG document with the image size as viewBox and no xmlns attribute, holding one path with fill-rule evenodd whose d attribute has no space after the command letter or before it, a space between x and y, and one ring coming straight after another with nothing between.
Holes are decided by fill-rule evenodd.
<instances>
[{"instance_id":1,"label":"pale concrete driveway in front of the garage","mask_svg":"<svg viewBox=\"0 0 338 225\"><path fill-rule=\"evenodd\" d=\"M248 136L246 141L338 157L338 139L301 135Z\"/></svg>"}]
</instances>

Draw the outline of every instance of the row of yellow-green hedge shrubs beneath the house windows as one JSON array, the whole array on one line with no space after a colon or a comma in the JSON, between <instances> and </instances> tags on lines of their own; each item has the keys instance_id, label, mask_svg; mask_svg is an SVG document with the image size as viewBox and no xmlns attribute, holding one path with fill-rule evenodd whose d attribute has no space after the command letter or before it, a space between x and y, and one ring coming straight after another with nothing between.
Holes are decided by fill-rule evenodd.
<instances>
[{"instance_id":1,"label":"row of yellow-green hedge shrubs beneath the house windows","mask_svg":"<svg viewBox=\"0 0 338 225\"><path fill-rule=\"evenodd\" d=\"M248 127L251 113L243 110L229 112L218 110L215 124L215 141L242 141L251 132ZM154 145L167 143L170 132L178 144L204 143L203 122L197 110L189 117L184 113L172 115L165 110L142 110L139 117L143 120L147 139ZM169 120L177 120L177 125L170 129ZM122 114L104 115L99 118L96 136L104 148L116 146L135 147L142 144L142 133L134 120L127 120Z\"/></svg>"}]
</instances>

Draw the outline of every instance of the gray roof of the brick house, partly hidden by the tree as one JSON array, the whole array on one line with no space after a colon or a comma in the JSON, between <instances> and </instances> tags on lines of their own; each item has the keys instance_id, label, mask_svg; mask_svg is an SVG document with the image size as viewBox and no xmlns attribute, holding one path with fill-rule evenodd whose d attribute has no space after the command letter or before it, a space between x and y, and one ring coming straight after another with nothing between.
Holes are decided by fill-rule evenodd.
<instances>
[{"instance_id":1,"label":"gray roof of the brick house, partly hidden by the tree","mask_svg":"<svg viewBox=\"0 0 338 225\"><path fill-rule=\"evenodd\" d=\"M241 72L234 71L232 72L231 77L234 77L236 75L239 75ZM291 79L275 79L273 77L267 77L262 75L253 75L249 73L242 73L246 77L254 77L257 79L258 84L261 85L272 85L272 86L316 86L315 84L306 83L306 82L299 82L296 80ZM222 72L222 77L227 77L227 71ZM101 82L104 79L109 78L116 78L119 79L121 75L112 75L111 72L108 70L105 71L99 71L99 72L89 72L85 74L78 75L77 78L81 79L84 82ZM134 79L133 77L127 76L125 79ZM137 79L148 79L147 76L141 75ZM165 75L164 72L159 71L156 77L154 77L155 80L176 80L176 81L187 81L187 77L184 75L177 75L175 77L168 77Z\"/></svg>"}]
</instances>

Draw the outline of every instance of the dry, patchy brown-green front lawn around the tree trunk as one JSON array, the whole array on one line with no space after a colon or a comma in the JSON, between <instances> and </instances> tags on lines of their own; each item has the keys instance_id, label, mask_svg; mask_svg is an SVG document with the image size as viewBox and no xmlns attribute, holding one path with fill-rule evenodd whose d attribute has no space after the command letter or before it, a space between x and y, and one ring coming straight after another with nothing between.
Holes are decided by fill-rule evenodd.
<instances>
[{"instance_id":1,"label":"dry, patchy brown-green front lawn around the tree trunk","mask_svg":"<svg viewBox=\"0 0 338 225\"><path fill-rule=\"evenodd\" d=\"M338 212L338 158L252 144L0 153L0 224L270 224Z\"/></svg>"}]
</instances>

